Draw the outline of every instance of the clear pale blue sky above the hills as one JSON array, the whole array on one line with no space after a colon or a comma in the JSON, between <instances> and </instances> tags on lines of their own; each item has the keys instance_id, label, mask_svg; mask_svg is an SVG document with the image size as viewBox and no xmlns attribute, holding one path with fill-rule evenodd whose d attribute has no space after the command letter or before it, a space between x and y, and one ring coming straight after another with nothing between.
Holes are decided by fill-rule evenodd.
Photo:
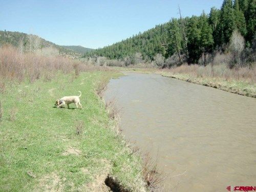
<instances>
[{"instance_id":1,"label":"clear pale blue sky above the hills","mask_svg":"<svg viewBox=\"0 0 256 192\"><path fill-rule=\"evenodd\" d=\"M36 34L58 45L99 48L178 17L200 15L222 0L0 0L0 30Z\"/></svg>"}]
</instances>

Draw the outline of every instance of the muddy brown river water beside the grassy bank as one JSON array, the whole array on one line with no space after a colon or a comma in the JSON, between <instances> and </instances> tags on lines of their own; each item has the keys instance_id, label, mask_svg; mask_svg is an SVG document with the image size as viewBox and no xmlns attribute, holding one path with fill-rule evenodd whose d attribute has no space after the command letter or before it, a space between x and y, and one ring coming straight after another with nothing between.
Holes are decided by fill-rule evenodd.
<instances>
[{"instance_id":1,"label":"muddy brown river water beside the grassy bank","mask_svg":"<svg viewBox=\"0 0 256 192\"><path fill-rule=\"evenodd\" d=\"M167 174L165 191L256 185L256 99L156 74L112 79L124 137Z\"/></svg>"}]
</instances>

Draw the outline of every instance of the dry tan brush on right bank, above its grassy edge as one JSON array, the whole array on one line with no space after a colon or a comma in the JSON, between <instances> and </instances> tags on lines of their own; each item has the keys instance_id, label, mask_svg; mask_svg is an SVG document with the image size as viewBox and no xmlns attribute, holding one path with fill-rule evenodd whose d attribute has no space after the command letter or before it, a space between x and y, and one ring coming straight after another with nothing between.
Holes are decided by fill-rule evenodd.
<instances>
[{"instance_id":1,"label":"dry tan brush on right bank, above its grassy edge","mask_svg":"<svg viewBox=\"0 0 256 192\"><path fill-rule=\"evenodd\" d=\"M182 65L177 68L168 69L172 74L189 74L202 78L222 78L225 80L240 80L256 83L256 68L243 67L229 69L227 65Z\"/></svg>"}]
</instances>

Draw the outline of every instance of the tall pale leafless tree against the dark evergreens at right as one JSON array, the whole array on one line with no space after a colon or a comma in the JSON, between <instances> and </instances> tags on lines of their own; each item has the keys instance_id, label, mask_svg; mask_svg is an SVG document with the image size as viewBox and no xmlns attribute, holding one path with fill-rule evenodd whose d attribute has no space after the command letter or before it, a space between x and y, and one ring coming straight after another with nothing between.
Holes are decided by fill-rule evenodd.
<instances>
[{"instance_id":1,"label":"tall pale leafless tree against the dark evergreens at right","mask_svg":"<svg viewBox=\"0 0 256 192\"><path fill-rule=\"evenodd\" d=\"M229 63L229 67L232 68L235 65L242 66L241 62L241 53L243 52L245 47L245 39L240 34L238 30L233 31L230 42L229 42L229 51L233 55L232 61Z\"/></svg>"}]
</instances>

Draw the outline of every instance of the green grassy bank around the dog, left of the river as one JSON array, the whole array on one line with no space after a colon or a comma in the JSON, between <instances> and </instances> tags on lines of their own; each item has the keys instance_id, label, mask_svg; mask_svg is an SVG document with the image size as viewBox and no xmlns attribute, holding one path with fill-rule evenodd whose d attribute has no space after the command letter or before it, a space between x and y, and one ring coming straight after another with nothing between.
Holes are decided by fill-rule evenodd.
<instances>
[{"instance_id":1,"label":"green grassy bank around the dog, left of the river","mask_svg":"<svg viewBox=\"0 0 256 192\"><path fill-rule=\"evenodd\" d=\"M145 190L141 158L131 155L123 138L115 134L116 122L95 94L97 81L117 76L100 71L73 79L59 73L51 82L10 83L0 93L4 111L0 191L90 191L97 179L108 174L125 189ZM56 99L78 95L78 91L82 92L82 110L53 107ZM84 125L80 135L76 134L78 121ZM69 154L72 148L78 153Z\"/></svg>"}]
</instances>

